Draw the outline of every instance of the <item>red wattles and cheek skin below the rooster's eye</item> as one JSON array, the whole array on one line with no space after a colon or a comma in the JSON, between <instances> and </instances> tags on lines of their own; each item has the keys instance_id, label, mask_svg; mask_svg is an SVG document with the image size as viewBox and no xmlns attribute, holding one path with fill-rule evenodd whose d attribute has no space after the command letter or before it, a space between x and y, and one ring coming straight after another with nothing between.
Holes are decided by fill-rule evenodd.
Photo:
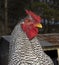
<instances>
[{"instance_id":1,"label":"red wattles and cheek skin below the rooster's eye","mask_svg":"<svg viewBox=\"0 0 59 65\"><path fill-rule=\"evenodd\" d=\"M38 34L38 28L34 27L32 24L30 26L22 24L21 27L23 31L26 33L29 40L33 39Z\"/></svg>"}]
</instances>

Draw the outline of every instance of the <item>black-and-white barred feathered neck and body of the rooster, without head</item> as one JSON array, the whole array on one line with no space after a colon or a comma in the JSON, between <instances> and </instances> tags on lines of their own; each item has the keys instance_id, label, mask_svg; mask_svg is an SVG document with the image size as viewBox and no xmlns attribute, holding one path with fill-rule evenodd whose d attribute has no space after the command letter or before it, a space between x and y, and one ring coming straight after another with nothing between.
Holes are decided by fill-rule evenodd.
<instances>
[{"instance_id":1,"label":"black-and-white barred feathered neck and body of the rooster, without head","mask_svg":"<svg viewBox=\"0 0 59 65\"><path fill-rule=\"evenodd\" d=\"M43 52L37 37L29 40L20 23L14 28L11 37L8 65L54 65Z\"/></svg>"}]
</instances>

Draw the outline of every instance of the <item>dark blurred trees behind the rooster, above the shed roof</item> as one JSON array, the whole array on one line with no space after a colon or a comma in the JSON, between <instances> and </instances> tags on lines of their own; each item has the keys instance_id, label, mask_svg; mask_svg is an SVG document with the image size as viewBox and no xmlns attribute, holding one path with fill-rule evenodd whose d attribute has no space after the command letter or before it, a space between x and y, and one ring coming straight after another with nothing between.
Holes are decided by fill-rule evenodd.
<instances>
[{"instance_id":1,"label":"dark blurred trees behind the rooster, above the shed roof","mask_svg":"<svg viewBox=\"0 0 59 65\"><path fill-rule=\"evenodd\" d=\"M59 33L59 0L0 0L0 36L9 35L30 9L42 18L40 33Z\"/></svg>"}]
</instances>

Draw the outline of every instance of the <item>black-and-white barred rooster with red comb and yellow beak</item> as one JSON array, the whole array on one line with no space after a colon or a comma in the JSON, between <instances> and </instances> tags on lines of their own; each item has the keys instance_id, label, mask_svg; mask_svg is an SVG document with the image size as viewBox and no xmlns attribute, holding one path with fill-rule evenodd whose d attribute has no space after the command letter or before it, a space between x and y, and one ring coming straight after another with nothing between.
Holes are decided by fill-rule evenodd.
<instances>
[{"instance_id":1,"label":"black-and-white barred rooster with red comb and yellow beak","mask_svg":"<svg viewBox=\"0 0 59 65\"><path fill-rule=\"evenodd\" d=\"M51 58L46 55L38 42L37 34L40 17L26 10L29 17L16 25L11 33L8 65L54 65Z\"/></svg>"}]
</instances>

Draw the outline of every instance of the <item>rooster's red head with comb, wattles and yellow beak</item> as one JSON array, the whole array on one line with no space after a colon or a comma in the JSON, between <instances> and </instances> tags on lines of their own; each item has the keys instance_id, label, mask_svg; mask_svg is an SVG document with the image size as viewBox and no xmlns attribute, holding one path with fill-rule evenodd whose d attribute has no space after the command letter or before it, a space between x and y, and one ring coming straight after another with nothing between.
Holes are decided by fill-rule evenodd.
<instances>
[{"instance_id":1,"label":"rooster's red head with comb, wattles and yellow beak","mask_svg":"<svg viewBox=\"0 0 59 65\"><path fill-rule=\"evenodd\" d=\"M31 15L31 13L28 12L28 15L29 17L24 19L21 27L29 40L31 40L38 35L38 28L42 28L42 24L40 23L39 19L36 20L36 16L33 16L35 15L34 13Z\"/></svg>"}]
</instances>

